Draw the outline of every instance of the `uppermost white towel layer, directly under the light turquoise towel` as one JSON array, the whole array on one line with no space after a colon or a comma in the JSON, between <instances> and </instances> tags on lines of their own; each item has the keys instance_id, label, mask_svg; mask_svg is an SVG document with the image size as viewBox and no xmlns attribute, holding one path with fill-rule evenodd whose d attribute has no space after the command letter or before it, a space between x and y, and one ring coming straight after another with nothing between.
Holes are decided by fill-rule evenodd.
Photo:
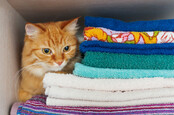
<instances>
[{"instance_id":1,"label":"uppermost white towel layer, directly under the light turquoise towel","mask_svg":"<svg viewBox=\"0 0 174 115\"><path fill-rule=\"evenodd\" d=\"M44 88L59 86L74 89L101 91L129 91L155 88L174 87L173 78L142 78L142 79L90 79L72 74L47 73L43 79Z\"/></svg>"}]
</instances>

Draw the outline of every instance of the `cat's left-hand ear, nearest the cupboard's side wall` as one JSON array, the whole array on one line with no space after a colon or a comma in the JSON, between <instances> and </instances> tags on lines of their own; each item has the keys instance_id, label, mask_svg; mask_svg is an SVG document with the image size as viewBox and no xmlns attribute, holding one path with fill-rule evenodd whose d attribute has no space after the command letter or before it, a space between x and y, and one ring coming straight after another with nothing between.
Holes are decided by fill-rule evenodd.
<instances>
[{"instance_id":1,"label":"cat's left-hand ear, nearest the cupboard's side wall","mask_svg":"<svg viewBox=\"0 0 174 115\"><path fill-rule=\"evenodd\" d=\"M28 36L36 36L42 32L42 29L35 24L27 23L25 25L25 31Z\"/></svg>"}]
</instances>

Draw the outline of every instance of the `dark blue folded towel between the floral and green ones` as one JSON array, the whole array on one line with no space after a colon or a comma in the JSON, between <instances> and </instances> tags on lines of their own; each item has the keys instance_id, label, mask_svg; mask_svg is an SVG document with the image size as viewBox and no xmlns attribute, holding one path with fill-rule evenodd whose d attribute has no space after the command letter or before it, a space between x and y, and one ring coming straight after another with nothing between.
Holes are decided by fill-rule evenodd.
<instances>
[{"instance_id":1,"label":"dark blue folded towel between the floral and green ones","mask_svg":"<svg viewBox=\"0 0 174 115\"><path fill-rule=\"evenodd\" d=\"M110 53L126 53L126 54L163 54L174 55L174 44L120 44L107 43L102 41L84 41L80 44L80 51L110 52Z\"/></svg>"}]
</instances>

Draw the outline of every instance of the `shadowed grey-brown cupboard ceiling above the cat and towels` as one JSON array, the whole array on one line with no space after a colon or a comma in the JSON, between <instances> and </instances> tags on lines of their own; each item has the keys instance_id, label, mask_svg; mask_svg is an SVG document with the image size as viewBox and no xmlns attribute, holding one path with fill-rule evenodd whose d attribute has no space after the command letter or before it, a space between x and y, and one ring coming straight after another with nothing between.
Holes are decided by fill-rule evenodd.
<instances>
[{"instance_id":1,"label":"shadowed grey-brown cupboard ceiling above the cat and towels","mask_svg":"<svg viewBox=\"0 0 174 115\"><path fill-rule=\"evenodd\" d=\"M174 18L174 0L8 0L30 22L102 16L124 21Z\"/></svg>"}]
</instances>

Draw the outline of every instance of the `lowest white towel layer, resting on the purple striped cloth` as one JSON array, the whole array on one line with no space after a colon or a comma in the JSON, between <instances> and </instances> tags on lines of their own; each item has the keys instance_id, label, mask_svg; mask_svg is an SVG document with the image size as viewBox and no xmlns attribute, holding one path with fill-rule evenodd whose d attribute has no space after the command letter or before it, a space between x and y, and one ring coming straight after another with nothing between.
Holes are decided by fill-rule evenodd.
<instances>
[{"instance_id":1,"label":"lowest white towel layer, resting on the purple striped cloth","mask_svg":"<svg viewBox=\"0 0 174 115\"><path fill-rule=\"evenodd\" d=\"M98 102L98 101L83 101L73 99L55 99L48 97L46 104L53 106L101 106L101 107L112 107L112 106L130 106L130 105L144 105L144 104L160 104L160 103L174 103L174 96L172 97L160 97L151 99L139 99L132 101L122 102Z\"/></svg>"}]
</instances>

